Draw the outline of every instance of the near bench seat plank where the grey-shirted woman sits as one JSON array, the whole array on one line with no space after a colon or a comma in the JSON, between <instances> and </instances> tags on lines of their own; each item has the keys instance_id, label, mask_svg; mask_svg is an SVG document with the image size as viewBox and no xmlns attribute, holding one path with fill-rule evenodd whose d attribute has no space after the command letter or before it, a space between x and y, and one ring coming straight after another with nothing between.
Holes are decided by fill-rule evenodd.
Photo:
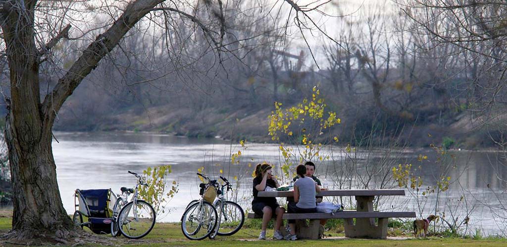
<instances>
[{"instance_id":1,"label":"near bench seat plank where the grey-shirted woman sits","mask_svg":"<svg viewBox=\"0 0 507 247\"><path fill-rule=\"evenodd\" d=\"M312 213L312 214L283 214L283 219L352 219L352 218L415 218L415 212L356 212L343 211L339 213Z\"/></svg>"}]
</instances>

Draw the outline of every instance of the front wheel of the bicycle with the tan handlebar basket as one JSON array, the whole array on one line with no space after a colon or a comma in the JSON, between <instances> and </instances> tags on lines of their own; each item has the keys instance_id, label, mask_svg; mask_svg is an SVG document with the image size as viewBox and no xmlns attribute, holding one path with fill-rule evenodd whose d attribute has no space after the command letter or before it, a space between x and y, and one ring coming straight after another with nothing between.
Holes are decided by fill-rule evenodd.
<instances>
[{"instance_id":1,"label":"front wheel of the bicycle with the tan handlebar basket","mask_svg":"<svg viewBox=\"0 0 507 247\"><path fill-rule=\"evenodd\" d=\"M190 205L182 216L183 235L190 240L206 238L215 228L217 216L215 208L207 201Z\"/></svg>"}]
</instances>

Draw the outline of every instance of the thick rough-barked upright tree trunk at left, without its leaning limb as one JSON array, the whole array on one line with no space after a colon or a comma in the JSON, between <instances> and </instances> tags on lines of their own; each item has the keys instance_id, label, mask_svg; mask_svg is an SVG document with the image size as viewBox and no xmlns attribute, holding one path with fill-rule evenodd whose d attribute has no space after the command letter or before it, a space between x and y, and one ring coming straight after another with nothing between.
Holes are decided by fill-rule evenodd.
<instances>
[{"instance_id":1,"label":"thick rough-barked upright tree trunk at left, without its leaning limb","mask_svg":"<svg viewBox=\"0 0 507 247\"><path fill-rule=\"evenodd\" d=\"M14 212L13 235L33 237L48 231L63 237L73 228L56 182L51 126L41 114L39 56L35 46L34 2L26 12L12 6L3 23L10 69L11 103L5 138L9 149ZM49 123L52 125L52 123Z\"/></svg>"}]
</instances>

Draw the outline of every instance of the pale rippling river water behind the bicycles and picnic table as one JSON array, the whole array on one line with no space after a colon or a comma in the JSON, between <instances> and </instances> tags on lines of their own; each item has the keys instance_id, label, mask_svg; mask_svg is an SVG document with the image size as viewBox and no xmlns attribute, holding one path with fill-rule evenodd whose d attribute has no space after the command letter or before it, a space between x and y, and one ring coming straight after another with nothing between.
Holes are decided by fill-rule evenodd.
<instances>
[{"instance_id":1,"label":"pale rippling river water behind the bicycles and picnic table","mask_svg":"<svg viewBox=\"0 0 507 247\"><path fill-rule=\"evenodd\" d=\"M154 133L54 134L58 140L53 141L58 185L68 214L75 211L75 189L111 188L118 193L122 186L135 185L136 179L127 173L128 170L141 173L148 167L165 164L172 166L168 180L176 181L179 191L167 205L169 212L161 215L159 221L179 221L188 202L199 198L200 180L196 172L200 168L204 168L204 172L211 177L218 178L222 175L234 181L234 185L239 188L234 200L239 201L246 211L250 210L251 173L255 164L267 161L278 166L281 163L278 146L274 144L247 143L245 149L239 144L220 139L189 139ZM507 178L504 154L456 150L452 152L455 159L449 162L451 165L441 166L439 164L444 162L442 157L437 162L440 156L430 148L403 149L396 152L376 150L356 152L353 155L342 149L328 149L327 152L333 154L333 161L317 163L317 175L327 182L328 187L343 188L350 183L353 189L362 189L365 184L368 184L368 188L379 188L378 181L382 181L385 171L391 175L392 167L412 163L413 169L417 170L418 176L423 180L419 199L409 195L414 190L406 189L406 196L391 196L394 198L381 200L380 210L410 210L424 218L437 211L440 215L445 214L448 222L457 218L458 224L469 215L468 225L461 227L467 229L469 234L474 234L476 229L479 229L483 235L505 235L507 222L501 219L507 217L503 208L507 204L504 204L503 193L507 184L502 180ZM230 153L238 150L242 152L239 163L230 165ZM427 158L418 160L419 155ZM347 157L356 161L349 169L353 174L343 172ZM380 164L388 170L383 170L383 174L368 172L367 167L378 167ZM435 184L443 167L448 169L446 178L451 178L450 189L439 195L439 207L436 209L436 193L422 196L421 191ZM365 177L369 180L365 181ZM384 186L396 187L392 182ZM283 201L280 199L280 202Z\"/></svg>"}]
</instances>

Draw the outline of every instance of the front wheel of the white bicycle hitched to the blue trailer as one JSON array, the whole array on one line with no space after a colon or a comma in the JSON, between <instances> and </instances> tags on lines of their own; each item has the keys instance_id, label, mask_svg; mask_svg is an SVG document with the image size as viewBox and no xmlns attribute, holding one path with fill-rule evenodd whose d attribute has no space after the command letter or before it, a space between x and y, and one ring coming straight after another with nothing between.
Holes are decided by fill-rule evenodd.
<instances>
[{"instance_id":1,"label":"front wheel of the white bicycle hitched to the blue trailer","mask_svg":"<svg viewBox=\"0 0 507 247\"><path fill-rule=\"evenodd\" d=\"M138 239L150 233L155 225L155 210L150 203L137 200L125 204L118 215L118 228L127 238Z\"/></svg>"}]
</instances>

